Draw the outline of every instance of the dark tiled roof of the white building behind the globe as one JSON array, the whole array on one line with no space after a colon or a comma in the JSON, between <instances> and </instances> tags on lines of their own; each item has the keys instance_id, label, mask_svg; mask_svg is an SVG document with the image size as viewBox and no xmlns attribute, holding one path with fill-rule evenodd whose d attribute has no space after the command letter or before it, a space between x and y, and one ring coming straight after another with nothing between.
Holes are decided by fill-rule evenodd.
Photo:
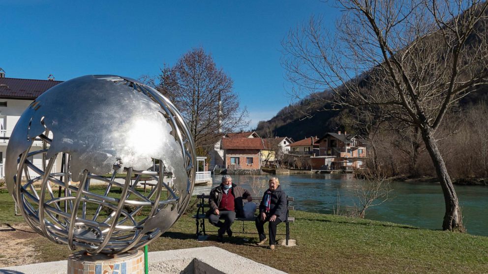
<instances>
[{"instance_id":1,"label":"dark tiled roof of the white building behind the globe","mask_svg":"<svg viewBox=\"0 0 488 274\"><path fill-rule=\"evenodd\" d=\"M0 98L34 100L62 81L0 78Z\"/></svg>"}]
</instances>

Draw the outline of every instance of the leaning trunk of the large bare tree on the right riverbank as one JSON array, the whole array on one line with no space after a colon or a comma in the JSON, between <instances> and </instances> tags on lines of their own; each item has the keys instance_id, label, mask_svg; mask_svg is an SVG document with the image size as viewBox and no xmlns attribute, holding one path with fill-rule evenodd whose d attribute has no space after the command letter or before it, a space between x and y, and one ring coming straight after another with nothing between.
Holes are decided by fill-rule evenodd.
<instances>
[{"instance_id":1,"label":"leaning trunk of the large bare tree on the right riverbank","mask_svg":"<svg viewBox=\"0 0 488 274\"><path fill-rule=\"evenodd\" d=\"M426 144L427 151L434 164L437 177L439 178L442 192L444 193L444 201L446 203L446 213L444 215L444 222L442 223L442 229L450 231L464 232L464 226L462 224L461 208L459 207L458 195L454 190L453 182L447 172L444 159L439 152L437 142L435 141L432 133L432 128L428 125L421 127L422 139Z\"/></svg>"}]
</instances>

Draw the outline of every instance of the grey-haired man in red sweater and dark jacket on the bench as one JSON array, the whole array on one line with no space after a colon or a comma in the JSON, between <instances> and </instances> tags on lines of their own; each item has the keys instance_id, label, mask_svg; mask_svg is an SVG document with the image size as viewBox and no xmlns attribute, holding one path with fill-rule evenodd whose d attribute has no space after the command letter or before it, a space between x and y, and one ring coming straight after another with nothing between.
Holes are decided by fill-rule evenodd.
<instances>
[{"instance_id":1,"label":"grey-haired man in red sweater and dark jacket on the bench","mask_svg":"<svg viewBox=\"0 0 488 274\"><path fill-rule=\"evenodd\" d=\"M230 227L236 218L236 213L237 216L244 216L243 198L249 202L252 201L251 194L233 184L232 177L229 175L224 175L222 183L210 192L210 209L207 212L207 218L210 223L219 228L217 236L219 241L222 241L225 232L232 237ZM219 218L224 219L224 222L219 221Z\"/></svg>"}]
</instances>

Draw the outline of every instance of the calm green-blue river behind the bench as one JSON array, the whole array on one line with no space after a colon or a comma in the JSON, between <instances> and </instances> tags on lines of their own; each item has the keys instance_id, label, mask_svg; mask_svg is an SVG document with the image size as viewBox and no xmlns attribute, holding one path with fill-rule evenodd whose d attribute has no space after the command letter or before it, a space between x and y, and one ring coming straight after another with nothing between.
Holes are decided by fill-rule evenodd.
<instances>
[{"instance_id":1,"label":"calm green-blue river behind the bench","mask_svg":"<svg viewBox=\"0 0 488 274\"><path fill-rule=\"evenodd\" d=\"M261 197L272 175L232 175L233 183ZM332 214L337 209L347 212L358 204L356 186L361 183L353 174L297 174L278 175L287 195L295 197L295 209ZM213 177L213 186L222 176ZM213 187L212 186L212 187ZM439 184L392 182L390 200L366 211L367 219L390 221L422 228L441 229L445 212L444 198ZM193 194L209 193L210 185L195 187ZM455 186L462 208L463 222L468 233L488 236L488 187ZM337 197L340 198L338 203Z\"/></svg>"}]
</instances>

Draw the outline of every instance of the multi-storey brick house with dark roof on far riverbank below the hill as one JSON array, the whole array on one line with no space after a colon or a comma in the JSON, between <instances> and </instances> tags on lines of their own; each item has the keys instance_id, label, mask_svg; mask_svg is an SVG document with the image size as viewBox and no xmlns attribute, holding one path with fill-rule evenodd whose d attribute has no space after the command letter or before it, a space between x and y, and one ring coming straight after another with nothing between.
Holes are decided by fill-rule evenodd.
<instances>
[{"instance_id":1,"label":"multi-storey brick house with dark roof on far riverbank below the hill","mask_svg":"<svg viewBox=\"0 0 488 274\"><path fill-rule=\"evenodd\" d=\"M366 143L355 134L327 133L315 141L319 153L310 157L313 169L353 170L363 168L366 160Z\"/></svg>"}]
</instances>

